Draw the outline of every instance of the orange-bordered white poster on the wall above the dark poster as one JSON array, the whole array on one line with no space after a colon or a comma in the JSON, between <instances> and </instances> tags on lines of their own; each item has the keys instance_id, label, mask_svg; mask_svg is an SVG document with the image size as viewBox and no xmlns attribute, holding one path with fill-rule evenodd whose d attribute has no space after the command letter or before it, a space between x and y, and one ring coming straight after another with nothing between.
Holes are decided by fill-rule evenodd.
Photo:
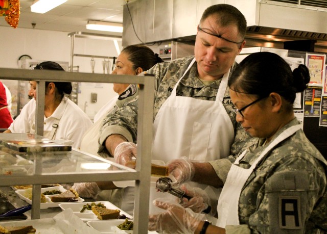
<instances>
[{"instance_id":1,"label":"orange-bordered white poster on the wall above the dark poster","mask_svg":"<svg viewBox=\"0 0 327 234\"><path fill-rule=\"evenodd\" d=\"M309 84L322 85L325 60L326 55L307 54L306 65L311 77Z\"/></svg>"}]
</instances>

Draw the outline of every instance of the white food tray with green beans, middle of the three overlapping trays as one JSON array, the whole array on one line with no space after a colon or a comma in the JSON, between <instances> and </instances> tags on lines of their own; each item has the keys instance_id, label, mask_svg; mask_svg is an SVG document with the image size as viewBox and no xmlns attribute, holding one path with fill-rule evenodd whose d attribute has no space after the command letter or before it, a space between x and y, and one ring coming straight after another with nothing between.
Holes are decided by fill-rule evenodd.
<instances>
[{"instance_id":1,"label":"white food tray with green beans, middle of the three overlapping trays","mask_svg":"<svg viewBox=\"0 0 327 234\"><path fill-rule=\"evenodd\" d=\"M131 218L131 219L133 218L131 215L129 215L126 212L122 211L121 209L119 209L117 206L115 206L114 204L112 204L109 201L95 201L96 204L98 204L99 202L101 202L101 204L104 204L107 209L120 210L121 215L126 215L126 217ZM82 210L82 208L83 208L83 205L90 204L90 203L91 202L62 203L62 204L59 204L59 207L63 211L68 209L68 208L71 208L73 210L74 214L83 221L99 220L98 217L92 211L89 211L89 210L85 209L83 213L80 212ZM124 222L124 219L120 219L118 221L121 221L121 220L123 220L122 222ZM103 222L103 221L112 221L112 220L99 220L99 221Z\"/></svg>"}]
</instances>

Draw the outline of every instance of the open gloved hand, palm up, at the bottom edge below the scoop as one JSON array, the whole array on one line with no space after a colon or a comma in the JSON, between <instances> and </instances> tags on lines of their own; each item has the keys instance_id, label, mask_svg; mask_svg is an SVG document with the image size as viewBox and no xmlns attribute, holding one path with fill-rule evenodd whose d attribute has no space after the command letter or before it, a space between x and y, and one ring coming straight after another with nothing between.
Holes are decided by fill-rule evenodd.
<instances>
[{"instance_id":1,"label":"open gloved hand, palm up, at the bottom edge below the scoop","mask_svg":"<svg viewBox=\"0 0 327 234\"><path fill-rule=\"evenodd\" d=\"M160 233L194 233L204 215L184 209L178 204L171 204L155 199L153 204L166 210L149 216L149 230Z\"/></svg>"}]
</instances>

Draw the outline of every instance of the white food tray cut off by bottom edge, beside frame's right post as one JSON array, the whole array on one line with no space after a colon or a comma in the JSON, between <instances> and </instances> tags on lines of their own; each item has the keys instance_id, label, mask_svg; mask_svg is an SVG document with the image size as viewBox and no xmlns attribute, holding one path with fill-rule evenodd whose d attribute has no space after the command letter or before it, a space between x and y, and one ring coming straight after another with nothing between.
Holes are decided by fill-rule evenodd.
<instances>
[{"instance_id":1,"label":"white food tray cut off by bottom edge, beside frame's right post","mask_svg":"<svg viewBox=\"0 0 327 234\"><path fill-rule=\"evenodd\" d=\"M133 233L133 230L121 230L117 227L124 222L125 220L88 221L87 225L102 233Z\"/></svg>"}]
</instances>

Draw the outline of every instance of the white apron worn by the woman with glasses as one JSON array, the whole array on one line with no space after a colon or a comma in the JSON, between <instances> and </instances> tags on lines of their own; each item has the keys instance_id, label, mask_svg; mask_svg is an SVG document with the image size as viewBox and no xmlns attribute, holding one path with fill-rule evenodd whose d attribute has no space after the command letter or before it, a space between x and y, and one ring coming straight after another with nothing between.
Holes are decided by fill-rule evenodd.
<instances>
[{"instance_id":1,"label":"white apron worn by the woman with glasses","mask_svg":"<svg viewBox=\"0 0 327 234\"><path fill-rule=\"evenodd\" d=\"M218 221L217 226L225 228L226 225L240 225L239 222L239 199L243 186L247 179L256 168L256 165L265 157L265 155L278 143L292 136L301 128L301 125L295 125L287 128L281 135L265 148L258 159L256 159L249 169L237 166L243 159L246 150L237 158L228 172L226 183L221 191L218 200Z\"/></svg>"}]
</instances>

